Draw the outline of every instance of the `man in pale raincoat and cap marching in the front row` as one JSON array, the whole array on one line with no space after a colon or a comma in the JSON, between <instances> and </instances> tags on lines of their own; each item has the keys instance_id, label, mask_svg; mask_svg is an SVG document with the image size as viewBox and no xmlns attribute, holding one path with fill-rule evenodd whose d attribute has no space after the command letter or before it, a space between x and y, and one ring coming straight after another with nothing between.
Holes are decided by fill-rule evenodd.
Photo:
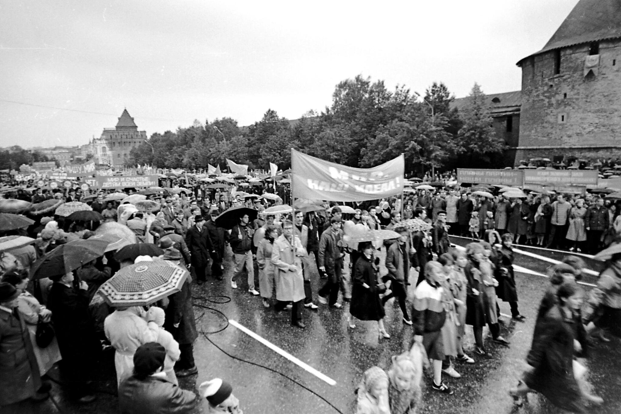
<instances>
[{"instance_id":1,"label":"man in pale raincoat and cap marching in the front row","mask_svg":"<svg viewBox=\"0 0 621 414\"><path fill-rule=\"evenodd\" d=\"M291 220L283 222L283 234L272 247L271 263L276 268L276 300L274 310L283 310L288 302L291 308L291 325L306 328L302 322L302 303L304 302L304 276L302 275L302 257L306 256L299 237L293 235Z\"/></svg>"}]
</instances>

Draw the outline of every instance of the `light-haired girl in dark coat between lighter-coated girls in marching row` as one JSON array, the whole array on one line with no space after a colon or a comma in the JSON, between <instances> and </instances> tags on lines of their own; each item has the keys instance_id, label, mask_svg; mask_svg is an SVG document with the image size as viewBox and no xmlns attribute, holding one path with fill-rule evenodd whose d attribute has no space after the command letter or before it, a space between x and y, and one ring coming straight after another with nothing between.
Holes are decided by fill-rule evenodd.
<instances>
[{"instance_id":1,"label":"light-haired girl in dark coat between lighter-coated girls in marching row","mask_svg":"<svg viewBox=\"0 0 621 414\"><path fill-rule=\"evenodd\" d=\"M466 288L466 325L471 325L474 331L476 348L474 353L484 358L491 358L483 343L483 326L487 323L485 304L483 302L483 279L479 264L483 260L483 246L479 243L469 243L466 246L468 264L464 268L464 274L468 279Z\"/></svg>"}]
</instances>

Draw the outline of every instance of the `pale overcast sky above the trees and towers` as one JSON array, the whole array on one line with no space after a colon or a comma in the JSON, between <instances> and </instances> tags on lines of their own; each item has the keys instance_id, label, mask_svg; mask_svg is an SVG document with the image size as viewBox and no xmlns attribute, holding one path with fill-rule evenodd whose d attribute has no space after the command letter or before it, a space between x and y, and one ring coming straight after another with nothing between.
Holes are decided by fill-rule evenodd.
<instances>
[{"instance_id":1,"label":"pale overcast sky above the trees and towers","mask_svg":"<svg viewBox=\"0 0 621 414\"><path fill-rule=\"evenodd\" d=\"M82 145L124 107L148 136L296 119L356 74L515 91L577 2L0 0L0 146Z\"/></svg>"}]
</instances>

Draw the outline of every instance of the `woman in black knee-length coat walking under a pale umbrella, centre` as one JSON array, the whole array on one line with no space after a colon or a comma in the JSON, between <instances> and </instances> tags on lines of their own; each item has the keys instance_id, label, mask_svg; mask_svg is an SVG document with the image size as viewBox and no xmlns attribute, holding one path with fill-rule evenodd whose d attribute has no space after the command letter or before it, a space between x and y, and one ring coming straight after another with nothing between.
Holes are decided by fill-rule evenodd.
<instances>
[{"instance_id":1,"label":"woman in black knee-length coat walking under a pale umbrella, centre","mask_svg":"<svg viewBox=\"0 0 621 414\"><path fill-rule=\"evenodd\" d=\"M376 320L380 333L384 329L384 307L379 299L378 271L373 259L373 244L360 243L358 246L360 257L356 260L353 270L353 287L351 289L350 313L360 320ZM350 328L355 328L353 320L349 321Z\"/></svg>"}]
</instances>

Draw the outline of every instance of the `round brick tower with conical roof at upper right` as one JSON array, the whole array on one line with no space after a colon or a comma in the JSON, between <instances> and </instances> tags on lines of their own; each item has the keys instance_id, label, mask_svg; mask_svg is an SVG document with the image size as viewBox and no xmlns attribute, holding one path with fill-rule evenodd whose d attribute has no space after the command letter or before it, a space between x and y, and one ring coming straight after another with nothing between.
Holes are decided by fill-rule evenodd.
<instances>
[{"instance_id":1,"label":"round brick tower with conical roof at upper right","mask_svg":"<svg viewBox=\"0 0 621 414\"><path fill-rule=\"evenodd\" d=\"M522 68L516 159L621 157L621 0L580 0Z\"/></svg>"}]
</instances>

